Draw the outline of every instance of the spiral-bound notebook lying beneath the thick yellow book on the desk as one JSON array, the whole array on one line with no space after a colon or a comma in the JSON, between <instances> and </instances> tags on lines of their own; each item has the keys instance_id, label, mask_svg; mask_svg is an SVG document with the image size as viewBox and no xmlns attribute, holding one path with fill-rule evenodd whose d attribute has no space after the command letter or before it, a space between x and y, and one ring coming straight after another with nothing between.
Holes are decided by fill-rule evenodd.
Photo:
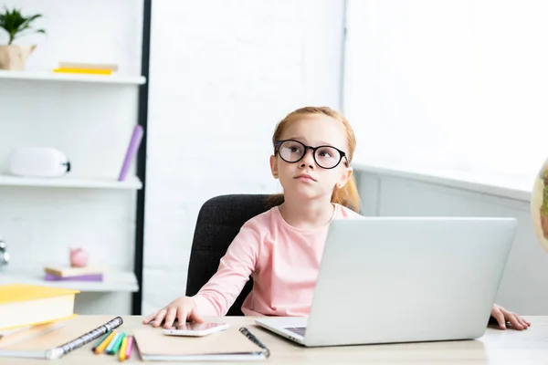
<instances>
[{"instance_id":1,"label":"spiral-bound notebook lying beneath the thick yellow book on the desk","mask_svg":"<svg viewBox=\"0 0 548 365\"><path fill-rule=\"evenodd\" d=\"M122 323L121 317L105 322L101 316L83 316L30 328L0 340L0 358L59 359Z\"/></svg>"}]
</instances>

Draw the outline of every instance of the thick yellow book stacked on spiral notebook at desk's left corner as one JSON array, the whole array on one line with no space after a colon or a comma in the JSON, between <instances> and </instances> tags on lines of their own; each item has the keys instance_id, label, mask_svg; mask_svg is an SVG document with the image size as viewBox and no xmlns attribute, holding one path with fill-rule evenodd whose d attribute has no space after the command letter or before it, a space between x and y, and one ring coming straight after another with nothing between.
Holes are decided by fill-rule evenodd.
<instances>
[{"instance_id":1,"label":"thick yellow book stacked on spiral notebook at desk's left corner","mask_svg":"<svg viewBox=\"0 0 548 365\"><path fill-rule=\"evenodd\" d=\"M121 317L104 322L101 316L75 314L78 293L26 284L0 286L0 359L56 360L121 326Z\"/></svg>"}]
</instances>

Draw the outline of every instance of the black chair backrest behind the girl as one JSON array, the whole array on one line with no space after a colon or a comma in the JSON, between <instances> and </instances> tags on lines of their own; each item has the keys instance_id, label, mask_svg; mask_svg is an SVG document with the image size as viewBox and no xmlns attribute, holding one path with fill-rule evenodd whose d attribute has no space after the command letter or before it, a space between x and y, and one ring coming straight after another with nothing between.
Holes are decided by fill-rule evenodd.
<instances>
[{"instance_id":1,"label":"black chair backrest behind the girl","mask_svg":"<svg viewBox=\"0 0 548 365\"><path fill-rule=\"evenodd\" d=\"M186 279L186 296L194 296L216 273L242 225L268 211L273 204L267 194L228 194L216 196L202 205L195 226ZM241 307L253 287L253 279L242 289L227 316L242 316Z\"/></svg>"}]
</instances>

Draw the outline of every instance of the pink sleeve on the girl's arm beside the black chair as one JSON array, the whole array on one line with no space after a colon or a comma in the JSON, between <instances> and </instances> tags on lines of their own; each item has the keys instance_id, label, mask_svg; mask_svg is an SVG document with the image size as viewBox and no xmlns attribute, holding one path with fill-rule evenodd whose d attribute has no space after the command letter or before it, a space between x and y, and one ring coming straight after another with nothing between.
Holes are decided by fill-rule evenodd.
<instances>
[{"instance_id":1,"label":"pink sleeve on the girl's arm beside the black chair","mask_svg":"<svg viewBox=\"0 0 548 365\"><path fill-rule=\"evenodd\" d=\"M227 314L255 271L260 245L255 224L244 224L221 258L216 274L193 297L200 316Z\"/></svg>"}]
</instances>

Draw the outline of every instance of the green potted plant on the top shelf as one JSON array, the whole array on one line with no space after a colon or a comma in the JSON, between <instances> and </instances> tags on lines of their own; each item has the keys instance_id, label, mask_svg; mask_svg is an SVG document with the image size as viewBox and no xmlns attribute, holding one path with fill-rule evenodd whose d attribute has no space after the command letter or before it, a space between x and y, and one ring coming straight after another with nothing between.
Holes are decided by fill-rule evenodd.
<instances>
[{"instance_id":1,"label":"green potted plant on the top shelf","mask_svg":"<svg viewBox=\"0 0 548 365\"><path fill-rule=\"evenodd\" d=\"M46 33L44 29L33 29L33 23L41 17L40 14L34 16L23 16L20 10L9 10L5 7L4 13L0 13L0 28L3 28L8 35L8 42L5 46L0 46L0 69L25 69L26 58L37 47L14 45L16 38L26 36L31 33Z\"/></svg>"}]
</instances>

